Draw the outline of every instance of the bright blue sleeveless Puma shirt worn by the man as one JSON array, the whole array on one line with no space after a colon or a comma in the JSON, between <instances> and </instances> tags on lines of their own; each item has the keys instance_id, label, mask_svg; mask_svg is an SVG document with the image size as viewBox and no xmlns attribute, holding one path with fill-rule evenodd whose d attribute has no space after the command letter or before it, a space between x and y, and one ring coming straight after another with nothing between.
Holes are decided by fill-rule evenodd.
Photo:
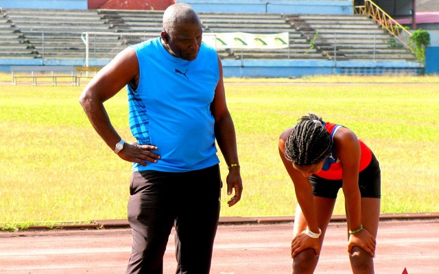
<instances>
[{"instance_id":1,"label":"bright blue sleeveless Puma shirt worn by the man","mask_svg":"<svg viewBox=\"0 0 439 274\"><path fill-rule=\"evenodd\" d=\"M219 82L215 49L202 43L198 57L182 60L154 38L131 46L139 60L139 86L127 85L130 129L139 145L161 155L133 171L185 172L219 163L211 103Z\"/></svg>"}]
</instances>

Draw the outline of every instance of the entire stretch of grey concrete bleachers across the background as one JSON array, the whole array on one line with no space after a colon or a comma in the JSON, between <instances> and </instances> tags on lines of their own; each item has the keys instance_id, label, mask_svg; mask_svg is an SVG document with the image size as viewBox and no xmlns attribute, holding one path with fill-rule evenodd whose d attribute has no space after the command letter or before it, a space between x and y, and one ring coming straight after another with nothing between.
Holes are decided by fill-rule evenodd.
<instances>
[{"instance_id":1,"label":"entire stretch of grey concrete bleachers across the background","mask_svg":"<svg viewBox=\"0 0 439 274\"><path fill-rule=\"evenodd\" d=\"M156 33L163 11L32 10L0 12L0 58L83 59L82 32ZM289 49L219 49L223 59L415 61L367 16L200 12L205 33L289 32ZM96 36L93 56L126 47L118 36Z\"/></svg>"}]
</instances>

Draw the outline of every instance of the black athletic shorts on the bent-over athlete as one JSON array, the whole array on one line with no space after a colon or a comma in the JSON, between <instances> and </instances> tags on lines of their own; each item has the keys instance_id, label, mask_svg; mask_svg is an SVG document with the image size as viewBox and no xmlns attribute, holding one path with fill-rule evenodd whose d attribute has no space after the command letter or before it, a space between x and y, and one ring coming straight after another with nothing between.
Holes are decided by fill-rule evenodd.
<instances>
[{"instance_id":1,"label":"black athletic shorts on the bent-over athlete","mask_svg":"<svg viewBox=\"0 0 439 274\"><path fill-rule=\"evenodd\" d=\"M338 190L343 186L341 179L323 179L316 175L311 175L308 179L313 188L313 195L317 197L336 199ZM359 173L358 184L362 198L381 198L381 169L373 153L370 164Z\"/></svg>"}]
</instances>

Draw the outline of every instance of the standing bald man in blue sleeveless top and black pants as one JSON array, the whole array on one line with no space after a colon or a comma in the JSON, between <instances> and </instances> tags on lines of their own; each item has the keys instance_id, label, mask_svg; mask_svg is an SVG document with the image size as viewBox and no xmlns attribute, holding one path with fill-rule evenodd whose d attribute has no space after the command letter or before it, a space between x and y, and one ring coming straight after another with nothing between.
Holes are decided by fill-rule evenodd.
<instances>
[{"instance_id":1,"label":"standing bald man in blue sleeveless top and black pants","mask_svg":"<svg viewBox=\"0 0 439 274\"><path fill-rule=\"evenodd\" d=\"M104 108L125 86L134 142L119 136ZM215 141L228 165L228 195L235 192L228 206L241 199L242 180L221 60L202 43L198 14L186 3L167 8L161 37L121 51L80 103L108 147L132 162L127 273L163 273L175 225L176 273L208 274L222 188Z\"/></svg>"}]
</instances>

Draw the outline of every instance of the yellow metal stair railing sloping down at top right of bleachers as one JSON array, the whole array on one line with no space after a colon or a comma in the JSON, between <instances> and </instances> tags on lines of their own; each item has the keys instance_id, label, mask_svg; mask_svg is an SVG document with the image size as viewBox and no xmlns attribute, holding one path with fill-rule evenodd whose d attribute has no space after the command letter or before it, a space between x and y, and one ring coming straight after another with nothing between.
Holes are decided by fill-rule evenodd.
<instances>
[{"instance_id":1,"label":"yellow metal stair railing sloping down at top right of bleachers","mask_svg":"<svg viewBox=\"0 0 439 274\"><path fill-rule=\"evenodd\" d=\"M387 29L390 34L414 53L414 43L410 40L412 34L401 24L396 22L389 14L379 8L377 4L370 0L364 0L364 5L355 6L355 12L357 14L367 14L371 16L381 27Z\"/></svg>"}]
</instances>

